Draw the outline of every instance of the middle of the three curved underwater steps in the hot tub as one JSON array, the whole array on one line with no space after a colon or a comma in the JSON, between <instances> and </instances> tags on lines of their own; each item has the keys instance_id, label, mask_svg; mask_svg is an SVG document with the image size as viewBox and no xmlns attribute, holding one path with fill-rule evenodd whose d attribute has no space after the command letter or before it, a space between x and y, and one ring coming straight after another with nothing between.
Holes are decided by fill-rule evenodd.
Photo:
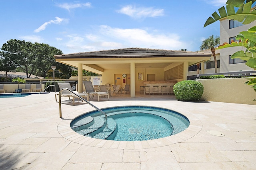
<instances>
[{"instance_id":1,"label":"middle of the three curved underwater steps in the hot tub","mask_svg":"<svg viewBox=\"0 0 256 170\"><path fill-rule=\"evenodd\" d=\"M93 124L90 125L89 127L87 127L86 129L80 129L78 131L76 131L77 133L81 134L81 135L87 135L89 133L92 133L100 128L102 128L105 124L105 119L100 117L100 116L96 116L93 117ZM80 126L82 127L82 126ZM79 128L80 128L79 127Z\"/></svg>"}]
</instances>

